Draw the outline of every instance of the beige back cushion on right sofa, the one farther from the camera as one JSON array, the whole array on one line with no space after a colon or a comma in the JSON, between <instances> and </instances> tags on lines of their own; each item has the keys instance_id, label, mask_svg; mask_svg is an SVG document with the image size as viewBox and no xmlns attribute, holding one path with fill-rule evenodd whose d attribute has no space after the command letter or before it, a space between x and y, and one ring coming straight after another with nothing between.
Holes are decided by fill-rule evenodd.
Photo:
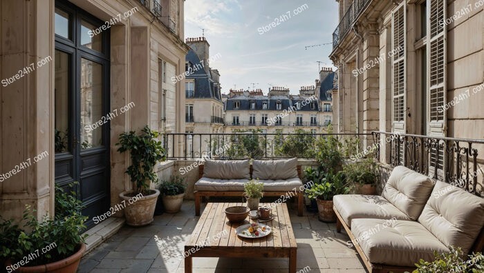
<instances>
[{"instance_id":1,"label":"beige back cushion on right sofa, the one farther from the camera","mask_svg":"<svg viewBox=\"0 0 484 273\"><path fill-rule=\"evenodd\" d=\"M429 177L404 166L393 169L383 189L382 196L398 210L416 221L434 188Z\"/></svg>"}]
</instances>

